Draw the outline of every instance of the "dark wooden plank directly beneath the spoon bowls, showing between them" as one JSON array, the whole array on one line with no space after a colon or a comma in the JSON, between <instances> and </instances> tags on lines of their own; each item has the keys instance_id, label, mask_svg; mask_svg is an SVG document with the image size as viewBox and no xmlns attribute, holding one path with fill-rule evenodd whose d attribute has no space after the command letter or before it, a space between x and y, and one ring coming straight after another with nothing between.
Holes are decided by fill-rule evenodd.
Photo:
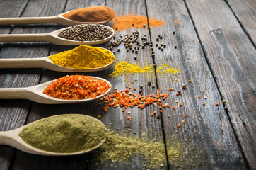
<instances>
[{"instance_id":1,"label":"dark wooden plank directly beneath the spoon bowls, showing between them","mask_svg":"<svg viewBox=\"0 0 256 170\"><path fill-rule=\"evenodd\" d=\"M74 8L82 8L85 6L95 6L95 5L104 5L104 1L68 1L66 6L66 11L69 11ZM117 16L126 15L127 13L134 13L135 15L144 15L146 16L146 8L144 3L141 1L107 1L107 6L113 8L114 11L117 12ZM131 8L130 6L135 6ZM110 23L111 24L111 23ZM129 33L132 34L132 31L136 29L123 30L117 32L117 37L119 34L125 35ZM139 29L141 35L146 34L149 37L148 30L146 28ZM101 47L107 47L108 44L100 45ZM69 50L73 47L57 47L55 45L52 46L51 54L62 52L63 50ZM120 52L116 53L116 57L119 60L132 59L134 54L132 52L126 52L123 45L119 46ZM114 49L117 51L117 47ZM153 64L151 57L149 57L150 50L139 50L139 54L141 57L138 57L137 63L149 62L149 64ZM132 61L133 62L133 61ZM155 93L156 89L146 89L148 79L145 77L140 77L137 75L127 77L127 80L133 80L134 84L130 82L124 81L124 77L117 77L115 79L111 79L107 77L113 71L113 67L107 69L102 72L90 72L83 73L84 75L92 75L103 77L109 80L112 84L112 87L118 87L118 90L127 89L128 86L136 87L138 89L136 93L139 91L139 85L143 84L145 87L144 93ZM67 73L61 72L51 72L45 70L42 76L41 82L50 81L51 79L57 79L59 77L63 77ZM156 81L154 77L151 77L151 82L154 84ZM50 115L63 114L63 113L81 113L86 115L93 115L97 117L101 115L100 120L107 125L111 130L115 130L120 133L127 133L128 135L133 135L137 137L143 136L142 133L146 133L146 137L150 140L163 141L162 128L161 128L161 120L156 118L151 118L149 113L153 112L153 106L146 108L144 110L138 108L132 108L131 116L133 117L132 121L127 120L127 111L122 113L120 108L109 108L107 113L103 111L103 105L98 106L99 101L90 102L90 103L80 103L80 104L70 104L68 106L65 105L54 105L54 106L45 106L39 103L33 104L31 108L30 116L28 118L28 123L34 120L38 120L40 118L45 118ZM119 129L119 130L117 130ZM128 129L132 129L129 131ZM148 132L149 130L149 132ZM136 132L134 134L134 132ZM52 157L51 159L42 158L42 157L34 157L30 154L23 154L22 152L17 152L18 157L23 157L23 159L16 159L14 164L15 167L20 167L21 169L31 169L35 167L36 169L141 169L144 167L144 159L139 156L132 157L129 160L129 164L127 162L103 162L103 164L98 164L95 162L96 155L99 151L91 152L90 154L85 154L77 157L68 157L69 163L66 163L65 158ZM28 164L30 162L30 164ZM49 164L54 164L54 166L49 166ZM166 162L163 162L165 166L162 169L166 169ZM149 166L149 162L147 163Z\"/></svg>"}]
</instances>

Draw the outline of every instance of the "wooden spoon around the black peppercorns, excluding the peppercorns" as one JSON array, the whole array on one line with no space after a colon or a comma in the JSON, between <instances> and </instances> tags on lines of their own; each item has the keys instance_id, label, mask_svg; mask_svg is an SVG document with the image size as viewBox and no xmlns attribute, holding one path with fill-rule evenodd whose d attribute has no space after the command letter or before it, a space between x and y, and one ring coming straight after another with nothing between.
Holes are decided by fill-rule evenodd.
<instances>
[{"instance_id":1,"label":"wooden spoon around the black peppercorns, excluding the peppercorns","mask_svg":"<svg viewBox=\"0 0 256 170\"><path fill-rule=\"evenodd\" d=\"M101 25L103 26L103 25ZM105 26L110 28L109 26ZM114 36L114 30L112 30L112 35L103 40L93 40L93 41L78 41L78 40L68 40L58 36L59 32L66 30L71 27L62 28L59 30L54 30L50 33L41 34L1 34L0 42L51 42L55 45L95 45L108 42Z\"/></svg>"}]
</instances>

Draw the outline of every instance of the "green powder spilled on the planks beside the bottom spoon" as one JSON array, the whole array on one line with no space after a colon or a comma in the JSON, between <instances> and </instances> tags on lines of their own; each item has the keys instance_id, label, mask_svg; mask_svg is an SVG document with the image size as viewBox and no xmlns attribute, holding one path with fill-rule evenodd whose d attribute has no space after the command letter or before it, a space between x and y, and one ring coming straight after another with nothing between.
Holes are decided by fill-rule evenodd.
<instances>
[{"instance_id":1,"label":"green powder spilled on the planks beside the bottom spoon","mask_svg":"<svg viewBox=\"0 0 256 170\"><path fill-rule=\"evenodd\" d=\"M198 147L188 146L185 142L175 137L167 138L168 163L177 169L198 169L201 162L202 150ZM186 151L186 152L184 152ZM98 154L97 154L98 153ZM106 140L97 150L98 162L125 161L128 162L132 156L141 158L141 165L146 169L166 169L165 146L163 142L153 140L147 141L139 137L119 135L107 130ZM191 159L197 157L197 159Z\"/></svg>"}]
</instances>

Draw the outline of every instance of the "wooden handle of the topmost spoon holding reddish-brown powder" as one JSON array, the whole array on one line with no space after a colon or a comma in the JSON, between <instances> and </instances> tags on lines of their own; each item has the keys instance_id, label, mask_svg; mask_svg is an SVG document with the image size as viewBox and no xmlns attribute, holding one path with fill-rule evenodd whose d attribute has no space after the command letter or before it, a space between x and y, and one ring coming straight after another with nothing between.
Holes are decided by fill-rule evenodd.
<instances>
[{"instance_id":1,"label":"wooden handle of the topmost spoon holding reddish-brown powder","mask_svg":"<svg viewBox=\"0 0 256 170\"><path fill-rule=\"evenodd\" d=\"M56 23L58 16L0 18L0 25L30 24L30 23Z\"/></svg>"}]
</instances>

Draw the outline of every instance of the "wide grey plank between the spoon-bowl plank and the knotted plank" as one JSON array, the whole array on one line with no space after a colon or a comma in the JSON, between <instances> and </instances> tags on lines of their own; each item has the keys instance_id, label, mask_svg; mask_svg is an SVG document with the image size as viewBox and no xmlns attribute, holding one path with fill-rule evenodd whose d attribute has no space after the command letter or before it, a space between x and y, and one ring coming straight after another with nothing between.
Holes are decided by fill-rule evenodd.
<instances>
[{"instance_id":1,"label":"wide grey plank between the spoon-bowl plank and the knotted plank","mask_svg":"<svg viewBox=\"0 0 256 170\"><path fill-rule=\"evenodd\" d=\"M149 18L165 21L161 28L151 27L153 43L156 44L156 37L160 34L163 40L158 43L167 44L163 51L156 50L156 64L161 67L161 63L165 63L182 71L176 76L157 73L158 89L163 94L169 94L164 102L171 106L163 109L167 148L172 147L173 143L169 141L173 136L178 138L179 147L184 145L178 149L181 154L179 159L169 155L169 169L246 169L184 1L146 1L146 6ZM208 18L207 22L211 19ZM189 83L189 80L192 82ZM182 84L186 84L187 89L183 89ZM175 90L168 91L170 88ZM179 96L176 95L178 90L181 91ZM183 105L180 106L180 103ZM206 103L205 106L202 103ZM185 122L182 123L182 120Z\"/></svg>"}]
</instances>

